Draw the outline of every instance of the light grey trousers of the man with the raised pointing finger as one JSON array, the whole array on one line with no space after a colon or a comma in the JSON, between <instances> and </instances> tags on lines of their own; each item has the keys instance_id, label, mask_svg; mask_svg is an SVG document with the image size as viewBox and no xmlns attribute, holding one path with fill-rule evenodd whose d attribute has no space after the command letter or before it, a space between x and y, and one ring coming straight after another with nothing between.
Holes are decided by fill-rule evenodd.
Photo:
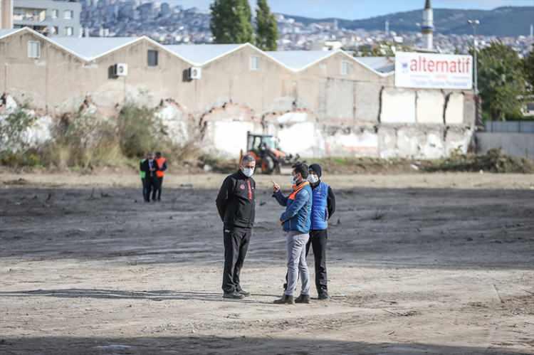
<instances>
[{"instance_id":1,"label":"light grey trousers of the man with the raised pointing finger","mask_svg":"<svg viewBox=\"0 0 534 355\"><path fill-rule=\"evenodd\" d=\"M293 296L293 290L297 286L297 279L300 275L302 281L301 295L310 295L310 272L306 264L306 243L310 239L308 233L298 232L286 233L286 248L288 250L288 287L286 295Z\"/></svg>"}]
</instances>

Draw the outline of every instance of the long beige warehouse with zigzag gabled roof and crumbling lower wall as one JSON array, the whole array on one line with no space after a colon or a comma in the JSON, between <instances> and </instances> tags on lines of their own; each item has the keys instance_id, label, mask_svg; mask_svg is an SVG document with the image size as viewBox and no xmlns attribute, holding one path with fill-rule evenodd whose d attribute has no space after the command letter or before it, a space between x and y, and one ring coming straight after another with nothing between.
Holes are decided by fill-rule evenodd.
<instances>
[{"instance_id":1,"label":"long beige warehouse with zigzag gabled roof and crumbling lower wall","mask_svg":"<svg viewBox=\"0 0 534 355\"><path fill-rule=\"evenodd\" d=\"M466 150L471 90L398 88L394 60L251 44L162 46L150 38L47 38L0 30L0 89L58 117L93 102L173 105L179 139L239 154L246 132L276 134L305 157L443 157ZM168 115L167 115L168 116Z\"/></svg>"}]
</instances>

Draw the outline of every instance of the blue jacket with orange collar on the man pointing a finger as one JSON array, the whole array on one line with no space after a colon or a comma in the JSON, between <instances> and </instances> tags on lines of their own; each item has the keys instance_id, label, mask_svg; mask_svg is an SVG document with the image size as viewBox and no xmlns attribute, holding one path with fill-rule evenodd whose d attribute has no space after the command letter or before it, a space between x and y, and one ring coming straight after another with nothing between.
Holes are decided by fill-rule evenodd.
<instances>
[{"instance_id":1,"label":"blue jacket with orange collar on the man pointing a finger","mask_svg":"<svg viewBox=\"0 0 534 355\"><path fill-rule=\"evenodd\" d=\"M310 183L306 181L298 186L293 186L293 193L289 196L283 196L281 191L277 191L273 196L281 206L286 206L286 212L280 216L280 220L283 221L283 230L309 233L313 203Z\"/></svg>"}]
</instances>

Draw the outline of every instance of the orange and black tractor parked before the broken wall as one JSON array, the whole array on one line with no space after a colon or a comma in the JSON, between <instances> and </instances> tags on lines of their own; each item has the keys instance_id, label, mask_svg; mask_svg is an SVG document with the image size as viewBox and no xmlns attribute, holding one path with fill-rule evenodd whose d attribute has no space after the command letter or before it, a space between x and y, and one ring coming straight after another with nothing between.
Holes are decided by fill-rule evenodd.
<instances>
[{"instance_id":1,"label":"orange and black tractor parked before the broken wall","mask_svg":"<svg viewBox=\"0 0 534 355\"><path fill-rule=\"evenodd\" d=\"M281 174L284 167L292 166L300 158L298 154L293 156L282 152L278 147L278 139L267 134L247 132L246 151L256 159L256 166L261 168L263 174Z\"/></svg>"}]
</instances>

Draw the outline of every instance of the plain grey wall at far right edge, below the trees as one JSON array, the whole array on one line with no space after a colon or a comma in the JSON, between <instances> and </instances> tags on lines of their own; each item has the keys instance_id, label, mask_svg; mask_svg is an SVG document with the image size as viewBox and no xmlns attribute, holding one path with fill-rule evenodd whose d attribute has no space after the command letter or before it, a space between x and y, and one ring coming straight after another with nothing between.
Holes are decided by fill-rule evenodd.
<instances>
[{"instance_id":1,"label":"plain grey wall at far right edge, below the trees","mask_svg":"<svg viewBox=\"0 0 534 355\"><path fill-rule=\"evenodd\" d=\"M534 134L477 132L476 149L481 154L489 149L502 149L513 157L534 159Z\"/></svg>"}]
</instances>

